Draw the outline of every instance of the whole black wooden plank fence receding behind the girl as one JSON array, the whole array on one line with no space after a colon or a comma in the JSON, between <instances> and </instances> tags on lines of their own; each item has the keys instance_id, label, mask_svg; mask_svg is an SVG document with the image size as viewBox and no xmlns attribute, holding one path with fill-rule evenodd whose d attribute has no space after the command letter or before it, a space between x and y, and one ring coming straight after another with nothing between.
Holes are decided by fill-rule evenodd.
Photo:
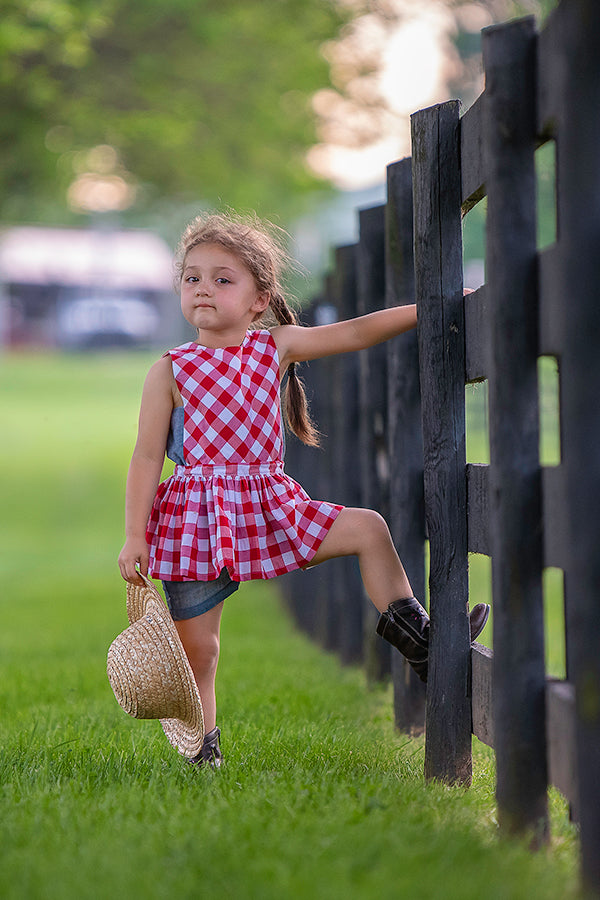
<instances>
[{"instance_id":1,"label":"whole black wooden plank fence receding behind the girl","mask_svg":"<svg viewBox=\"0 0 600 900\"><path fill-rule=\"evenodd\" d=\"M471 735L495 748L499 821L548 834L547 786L579 822L585 882L600 891L600 6L563 0L483 32L485 91L412 117L412 160L388 167L385 206L312 321L413 302L417 333L305 378L327 435L288 468L314 496L390 522L415 594L430 555L425 690L374 636L354 562L289 576L298 621L370 678L393 669L397 725L426 724L425 775L471 779ZM534 154L556 143L556 242L536 248ZM461 218L487 196L486 283L463 297ZM414 210L413 210L414 208ZM537 364L558 360L561 460L539 461ZM466 463L465 385L489 384L490 465ZM492 559L493 653L470 648L468 553ZM567 677L547 678L542 573L564 572Z\"/></svg>"}]
</instances>

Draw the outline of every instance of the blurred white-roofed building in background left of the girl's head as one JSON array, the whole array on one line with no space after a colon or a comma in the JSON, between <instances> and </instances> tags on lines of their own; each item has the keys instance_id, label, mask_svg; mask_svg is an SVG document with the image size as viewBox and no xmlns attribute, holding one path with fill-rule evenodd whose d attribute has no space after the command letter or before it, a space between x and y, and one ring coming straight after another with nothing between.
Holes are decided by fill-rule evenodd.
<instances>
[{"instance_id":1,"label":"blurred white-roofed building in background left of the girl's head","mask_svg":"<svg viewBox=\"0 0 600 900\"><path fill-rule=\"evenodd\" d=\"M179 338L172 253L152 232L7 229L0 288L5 345L167 346Z\"/></svg>"}]
</instances>

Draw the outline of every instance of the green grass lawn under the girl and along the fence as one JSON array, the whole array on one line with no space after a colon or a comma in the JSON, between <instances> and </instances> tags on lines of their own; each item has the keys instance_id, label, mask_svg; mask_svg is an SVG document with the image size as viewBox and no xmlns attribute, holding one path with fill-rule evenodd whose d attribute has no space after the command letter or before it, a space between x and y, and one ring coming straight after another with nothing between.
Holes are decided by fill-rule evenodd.
<instances>
[{"instance_id":1,"label":"green grass lawn under the girl and along the fence","mask_svg":"<svg viewBox=\"0 0 600 900\"><path fill-rule=\"evenodd\" d=\"M126 625L115 560L148 362L0 359L0 896L577 896L558 794L552 845L530 854L498 838L477 741L470 790L425 785L390 687L298 634L273 583L226 604L219 773L122 712L105 660Z\"/></svg>"}]
</instances>

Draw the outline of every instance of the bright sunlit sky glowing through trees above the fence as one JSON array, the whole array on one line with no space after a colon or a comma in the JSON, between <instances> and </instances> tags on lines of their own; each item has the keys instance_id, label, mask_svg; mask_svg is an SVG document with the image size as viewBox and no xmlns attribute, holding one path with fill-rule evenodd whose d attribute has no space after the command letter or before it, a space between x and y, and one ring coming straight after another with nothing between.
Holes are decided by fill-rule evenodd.
<instances>
[{"instance_id":1,"label":"bright sunlit sky glowing through trees above the fence","mask_svg":"<svg viewBox=\"0 0 600 900\"><path fill-rule=\"evenodd\" d=\"M410 155L410 114L448 99L448 81L460 75L452 43L456 23L443 0L388 0L387 8L387 21L367 13L324 48L334 84L337 79L346 88L315 96L321 141L308 163L345 190L381 182L388 163ZM478 3L465 3L460 19L469 31L491 22ZM378 64L379 71L353 72L360 59ZM375 97L383 108L374 120L365 100Z\"/></svg>"}]
</instances>

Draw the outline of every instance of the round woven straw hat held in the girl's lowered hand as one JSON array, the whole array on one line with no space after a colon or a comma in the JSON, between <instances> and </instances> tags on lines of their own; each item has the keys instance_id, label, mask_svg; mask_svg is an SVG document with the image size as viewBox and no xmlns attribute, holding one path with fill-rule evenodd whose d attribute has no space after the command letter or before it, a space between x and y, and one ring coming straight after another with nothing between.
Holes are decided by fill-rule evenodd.
<instances>
[{"instance_id":1,"label":"round woven straw hat held in the girl's lowered hand","mask_svg":"<svg viewBox=\"0 0 600 900\"><path fill-rule=\"evenodd\" d=\"M147 578L127 584L129 628L108 650L113 693L136 719L160 719L167 739L190 759L204 739L202 701L170 613Z\"/></svg>"}]
</instances>

